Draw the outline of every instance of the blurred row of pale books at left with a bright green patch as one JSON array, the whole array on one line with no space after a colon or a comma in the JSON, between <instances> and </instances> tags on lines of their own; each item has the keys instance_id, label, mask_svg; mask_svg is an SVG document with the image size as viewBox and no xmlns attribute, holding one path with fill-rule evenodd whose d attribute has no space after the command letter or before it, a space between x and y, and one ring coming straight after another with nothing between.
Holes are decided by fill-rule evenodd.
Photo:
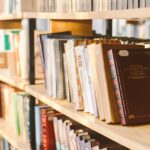
<instances>
[{"instance_id":1,"label":"blurred row of pale books at left with a bright green patch","mask_svg":"<svg viewBox=\"0 0 150 150\"><path fill-rule=\"evenodd\" d=\"M28 79L27 49L24 47L25 34L19 29L0 30L0 55L4 60L1 68L7 70L9 75Z\"/></svg>"}]
</instances>

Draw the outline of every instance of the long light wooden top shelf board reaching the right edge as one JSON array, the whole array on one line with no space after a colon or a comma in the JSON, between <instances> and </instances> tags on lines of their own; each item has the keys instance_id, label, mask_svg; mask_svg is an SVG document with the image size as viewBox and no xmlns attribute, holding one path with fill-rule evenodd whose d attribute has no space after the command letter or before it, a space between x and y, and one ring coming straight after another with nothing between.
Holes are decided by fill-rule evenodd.
<instances>
[{"instance_id":1,"label":"long light wooden top shelf board reaching the right edge","mask_svg":"<svg viewBox=\"0 0 150 150\"><path fill-rule=\"evenodd\" d=\"M102 12L76 12L76 13L24 12L23 17L41 18L41 19L61 19L61 20L150 18L150 8L112 10Z\"/></svg>"}]
</instances>

